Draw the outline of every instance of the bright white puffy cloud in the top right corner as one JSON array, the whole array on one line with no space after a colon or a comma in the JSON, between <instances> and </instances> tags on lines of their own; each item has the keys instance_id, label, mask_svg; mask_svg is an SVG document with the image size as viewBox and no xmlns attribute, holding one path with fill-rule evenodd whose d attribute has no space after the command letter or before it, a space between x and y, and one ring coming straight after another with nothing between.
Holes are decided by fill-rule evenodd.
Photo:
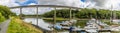
<instances>
[{"instance_id":1,"label":"bright white puffy cloud in the top right corner","mask_svg":"<svg viewBox=\"0 0 120 33\"><path fill-rule=\"evenodd\" d=\"M120 9L120 0L109 0L106 2L105 4L105 8L108 8L110 9L112 7L112 9L116 9L116 10L119 10Z\"/></svg>"}]
</instances>

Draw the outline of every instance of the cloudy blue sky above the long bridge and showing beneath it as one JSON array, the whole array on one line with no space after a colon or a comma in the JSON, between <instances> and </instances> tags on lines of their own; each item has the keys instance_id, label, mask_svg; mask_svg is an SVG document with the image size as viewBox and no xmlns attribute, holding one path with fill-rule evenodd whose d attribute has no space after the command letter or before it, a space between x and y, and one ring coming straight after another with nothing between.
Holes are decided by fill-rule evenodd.
<instances>
[{"instance_id":1,"label":"cloudy blue sky above the long bridge and showing beneath it","mask_svg":"<svg viewBox=\"0 0 120 33\"><path fill-rule=\"evenodd\" d=\"M0 5L14 7L14 6L27 6L27 5L64 5L79 8L97 8L97 9L120 9L120 0L0 0ZM25 9L25 12L29 12L29 8ZM41 8L40 8L41 9ZM43 10L49 10L50 8L44 8ZM45 11L47 12L47 11ZM35 12L34 12L35 13Z\"/></svg>"}]
</instances>

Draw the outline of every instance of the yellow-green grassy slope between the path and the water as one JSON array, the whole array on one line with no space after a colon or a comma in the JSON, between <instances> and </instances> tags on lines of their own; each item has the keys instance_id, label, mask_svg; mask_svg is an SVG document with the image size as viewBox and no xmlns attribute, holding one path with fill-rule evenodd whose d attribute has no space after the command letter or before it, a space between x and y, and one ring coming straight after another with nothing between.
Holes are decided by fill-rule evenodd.
<instances>
[{"instance_id":1,"label":"yellow-green grassy slope between the path and the water","mask_svg":"<svg viewBox=\"0 0 120 33\"><path fill-rule=\"evenodd\" d=\"M23 22L19 18L12 18L7 33L43 33L43 32L31 24Z\"/></svg>"}]
</instances>

